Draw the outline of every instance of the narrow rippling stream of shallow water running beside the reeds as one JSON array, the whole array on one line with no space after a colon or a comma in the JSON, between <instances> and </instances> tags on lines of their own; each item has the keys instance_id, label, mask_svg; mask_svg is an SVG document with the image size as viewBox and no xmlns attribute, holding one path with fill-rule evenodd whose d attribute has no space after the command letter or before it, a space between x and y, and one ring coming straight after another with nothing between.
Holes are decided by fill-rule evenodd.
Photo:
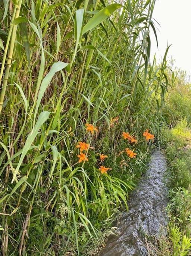
<instances>
[{"instance_id":1,"label":"narrow rippling stream of shallow water running beside the reeds","mask_svg":"<svg viewBox=\"0 0 191 256\"><path fill-rule=\"evenodd\" d=\"M156 150L151 154L145 176L129 198L129 211L119 220L118 236L108 238L100 256L146 256L145 234L155 237L166 234L168 190L165 173L165 156Z\"/></svg>"}]
</instances>

